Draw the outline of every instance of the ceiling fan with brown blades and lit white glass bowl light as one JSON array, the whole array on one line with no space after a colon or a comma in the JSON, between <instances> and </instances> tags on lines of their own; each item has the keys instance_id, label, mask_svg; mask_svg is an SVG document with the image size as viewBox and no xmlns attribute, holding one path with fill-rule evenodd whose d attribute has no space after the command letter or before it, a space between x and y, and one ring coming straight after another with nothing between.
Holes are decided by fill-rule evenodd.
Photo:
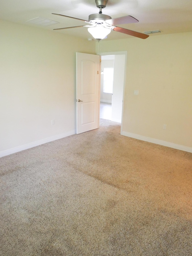
<instances>
[{"instance_id":1,"label":"ceiling fan with brown blades and lit white glass bowl light","mask_svg":"<svg viewBox=\"0 0 192 256\"><path fill-rule=\"evenodd\" d=\"M136 23L139 22L137 19L135 19L132 16L124 16L112 19L110 16L102 14L102 9L106 7L108 0L95 0L95 3L97 7L99 8L98 14L90 14L88 20L81 20L74 17L69 17L62 14L56 14L67 18L72 18L76 20L84 21L85 23L88 23L88 25L85 26L75 26L75 27L67 27L67 28L61 28L61 29L71 29L71 28L78 28L78 27L88 27L88 32L98 41L101 39L104 39L107 37L107 35L113 30L120 33L124 33L127 35L135 36L138 38L146 39L149 37L149 35L146 35L144 33L136 32L130 29L124 29L120 28L114 25L118 24L128 24L128 23ZM59 29L54 29L59 30Z\"/></svg>"}]
</instances>

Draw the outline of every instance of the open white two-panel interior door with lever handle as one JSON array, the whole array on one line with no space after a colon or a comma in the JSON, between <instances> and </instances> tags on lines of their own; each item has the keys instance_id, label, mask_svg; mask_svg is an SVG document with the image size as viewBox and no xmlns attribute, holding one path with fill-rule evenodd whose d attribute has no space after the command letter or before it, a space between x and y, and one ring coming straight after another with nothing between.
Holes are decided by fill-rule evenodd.
<instances>
[{"instance_id":1,"label":"open white two-panel interior door with lever handle","mask_svg":"<svg viewBox=\"0 0 192 256\"><path fill-rule=\"evenodd\" d=\"M76 53L76 133L99 127L100 56Z\"/></svg>"}]
</instances>

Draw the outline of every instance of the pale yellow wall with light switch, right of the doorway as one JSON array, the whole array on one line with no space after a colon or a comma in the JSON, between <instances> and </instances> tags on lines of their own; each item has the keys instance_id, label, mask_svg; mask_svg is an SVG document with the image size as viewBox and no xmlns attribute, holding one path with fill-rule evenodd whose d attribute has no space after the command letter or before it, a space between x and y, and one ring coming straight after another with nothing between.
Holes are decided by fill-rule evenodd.
<instances>
[{"instance_id":1,"label":"pale yellow wall with light switch, right of the doorway","mask_svg":"<svg viewBox=\"0 0 192 256\"><path fill-rule=\"evenodd\" d=\"M128 52L122 131L192 149L191 41L191 32L102 41L101 52Z\"/></svg>"}]
</instances>

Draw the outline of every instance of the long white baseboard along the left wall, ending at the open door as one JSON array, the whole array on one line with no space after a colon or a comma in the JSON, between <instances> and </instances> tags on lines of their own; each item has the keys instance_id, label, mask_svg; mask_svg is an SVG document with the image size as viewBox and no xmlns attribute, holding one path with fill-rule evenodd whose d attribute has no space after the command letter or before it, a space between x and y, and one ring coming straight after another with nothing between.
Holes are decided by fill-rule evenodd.
<instances>
[{"instance_id":1,"label":"long white baseboard along the left wall, ending at the open door","mask_svg":"<svg viewBox=\"0 0 192 256\"><path fill-rule=\"evenodd\" d=\"M6 156L6 155L10 155L10 154L25 150L25 149L30 149L30 148L42 145L42 144L47 143L47 142L51 142L53 140L62 139L64 137L67 137L67 136L70 136L70 135L73 135L73 134L76 134L75 130L65 132L65 133L62 133L62 134L58 134L58 135L55 135L55 136L52 136L52 137L49 137L49 138L45 138L45 139L42 139L42 140L38 140L38 141L29 143L29 144L26 144L26 145L22 145L22 146L19 146L19 147L15 147L15 148L12 148L12 149L7 149L5 151L0 152L0 158L3 157L3 156Z\"/></svg>"}]
</instances>

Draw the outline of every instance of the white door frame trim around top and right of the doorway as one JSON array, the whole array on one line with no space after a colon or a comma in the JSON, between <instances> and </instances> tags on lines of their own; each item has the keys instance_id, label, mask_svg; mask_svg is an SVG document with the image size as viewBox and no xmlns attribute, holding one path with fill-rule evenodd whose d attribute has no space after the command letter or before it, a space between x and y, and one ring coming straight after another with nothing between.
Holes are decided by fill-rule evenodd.
<instances>
[{"instance_id":1,"label":"white door frame trim around top and right of the doorway","mask_svg":"<svg viewBox=\"0 0 192 256\"><path fill-rule=\"evenodd\" d=\"M122 104L122 121L121 121L121 135L122 135L122 123L123 123L123 112L124 112L124 102L125 102L125 80L126 80L126 70L127 70L127 51L121 51L121 52L104 52L104 53L96 53L100 56L105 55L125 55L125 70L124 70L124 83L123 83L123 104ZM101 94L101 83L99 88L99 95Z\"/></svg>"}]
</instances>

